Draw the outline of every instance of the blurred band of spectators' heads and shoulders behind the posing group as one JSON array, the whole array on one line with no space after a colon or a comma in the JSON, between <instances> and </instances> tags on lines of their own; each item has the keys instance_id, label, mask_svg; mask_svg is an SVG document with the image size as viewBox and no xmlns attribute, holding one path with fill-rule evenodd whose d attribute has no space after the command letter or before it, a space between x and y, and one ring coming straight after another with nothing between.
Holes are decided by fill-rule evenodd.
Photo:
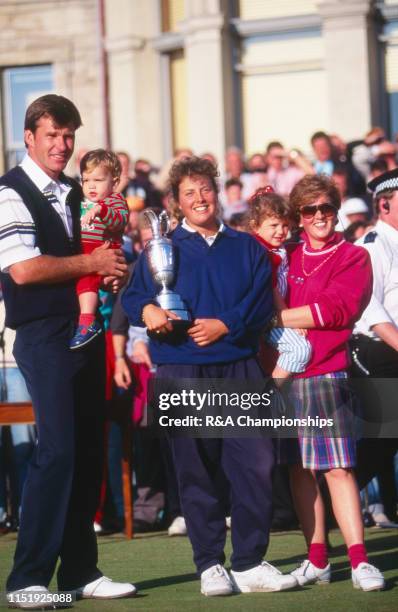
<instances>
[{"instance_id":1,"label":"blurred band of spectators' heads and shoulders behind the posing group","mask_svg":"<svg viewBox=\"0 0 398 612\"><path fill-rule=\"evenodd\" d=\"M209 152L200 155L220 168L219 202L223 221L233 227L242 227L247 202L260 187L271 185L277 194L286 197L304 175L326 174L332 176L342 198L337 229L345 232L349 241L359 238L371 227L373 219L366 184L397 167L398 144L387 140L382 128L373 127L362 139L352 142L318 131L312 135L310 146L311 153L304 154L279 141L271 141L264 151L257 151L248 158L236 146L227 149L224 160L217 160ZM167 174L175 160L193 153L200 152L179 149L171 160L158 168L148 160L133 161L126 152L118 152L123 168L119 190L129 205L127 236L133 242L138 236L138 213L148 206L164 207L178 220L167 191ZM80 152L77 159L79 155Z\"/></svg>"}]
</instances>

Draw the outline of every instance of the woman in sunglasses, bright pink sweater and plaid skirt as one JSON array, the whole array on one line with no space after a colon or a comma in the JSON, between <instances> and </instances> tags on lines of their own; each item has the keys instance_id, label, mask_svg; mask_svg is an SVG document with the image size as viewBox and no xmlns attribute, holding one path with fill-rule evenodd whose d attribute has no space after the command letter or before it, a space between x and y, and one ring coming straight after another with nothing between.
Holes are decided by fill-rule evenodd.
<instances>
[{"instance_id":1,"label":"woman in sunglasses, bright pink sweater and plaid skirt","mask_svg":"<svg viewBox=\"0 0 398 612\"><path fill-rule=\"evenodd\" d=\"M312 357L304 373L292 382L291 399L297 417L331 416L347 425L350 398L346 384L350 365L347 342L354 322L372 292L371 264L365 249L346 242L335 231L340 196L325 176L305 176L293 189L290 203L303 228L302 241L293 245L288 276L289 309L278 324L307 328ZM340 421L340 422L339 422ZM349 419L348 419L349 421ZM319 433L318 433L319 431ZM296 510L308 545L308 558L292 572L299 584L327 583L325 516L316 473L326 479L333 511L348 549L355 588L384 587L377 568L368 563L360 497L353 473L355 437L336 430L315 435L299 431L290 448L291 486ZM292 452L294 451L294 452Z\"/></svg>"}]
</instances>

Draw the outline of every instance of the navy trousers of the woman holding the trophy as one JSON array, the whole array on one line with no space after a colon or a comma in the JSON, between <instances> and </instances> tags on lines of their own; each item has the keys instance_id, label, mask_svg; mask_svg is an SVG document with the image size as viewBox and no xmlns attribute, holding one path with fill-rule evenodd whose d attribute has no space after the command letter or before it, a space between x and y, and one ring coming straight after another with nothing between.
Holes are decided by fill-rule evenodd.
<instances>
[{"instance_id":1,"label":"navy trousers of the woman holding the trophy","mask_svg":"<svg viewBox=\"0 0 398 612\"><path fill-rule=\"evenodd\" d=\"M160 378L261 378L255 359L208 366L162 365ZM198 573L225 561L225 508L230 501L231 566L244 571L258 565L267 550L272 519L271 438L170 440L182 511ZM220 486L220 469L230 488Z\"/></svg>"}]
</instances>

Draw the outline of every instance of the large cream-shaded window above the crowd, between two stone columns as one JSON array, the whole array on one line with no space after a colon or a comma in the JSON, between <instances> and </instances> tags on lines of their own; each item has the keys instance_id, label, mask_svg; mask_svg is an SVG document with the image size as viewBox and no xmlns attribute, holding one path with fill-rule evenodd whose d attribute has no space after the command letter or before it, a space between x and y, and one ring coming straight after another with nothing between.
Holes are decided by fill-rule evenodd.
<instances>
[{"instance_id":1,"label":"large cream-shaded window above the crowd, between two stone columns","mask_svg":"<svg viewBox=\"0 0 398 612\"><path fill-rule=\"evenodd\" d=\"M263 151L271 140L308 152L311 134L329 129L320 32L248 37L238 69L247 154Z\"/></svg>"}]
</instances>

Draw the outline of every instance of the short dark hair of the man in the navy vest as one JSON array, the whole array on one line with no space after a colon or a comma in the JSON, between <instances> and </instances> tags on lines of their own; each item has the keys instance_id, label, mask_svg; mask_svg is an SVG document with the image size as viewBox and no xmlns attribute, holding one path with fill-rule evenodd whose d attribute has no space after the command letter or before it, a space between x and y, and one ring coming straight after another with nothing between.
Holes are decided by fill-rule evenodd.
<instances>
[{"instance_id":1,"label":"short dark hair of the man in the navy vest","mask_svg":"<svg viewBox=\"0 0 398 612\"><path fill-rule=\"evenodd\" d=\"M57 125L61 127L72 125L75 130L82 125L80 113L73 102L56 94L40 96L28 106L25 114L25 130L35 132L41 117L52 117Z\"/></svg>"}]
</instances>

